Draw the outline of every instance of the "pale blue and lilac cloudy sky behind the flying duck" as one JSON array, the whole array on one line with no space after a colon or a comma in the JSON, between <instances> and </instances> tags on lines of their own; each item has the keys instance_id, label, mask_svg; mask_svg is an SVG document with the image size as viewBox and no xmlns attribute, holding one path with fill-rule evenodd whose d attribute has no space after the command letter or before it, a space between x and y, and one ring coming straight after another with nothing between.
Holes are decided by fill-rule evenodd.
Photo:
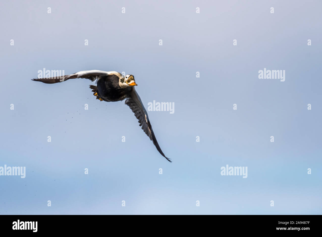
<instances>
[{"instance_id":1,"label":"pale blue and lilac cloudy sky behind the flying duck","mask_svg":"<svg viewBox=\"0 0 322 237\"><path fill-rule=\"evenodd\" d=\"M0 214L321 214L322 3L141 2L1 2L0 166L26 177L0 176ZM174 102L149 111L173 163L124 101L86 79L31 81L43 68L125 71L146 108Z\"/></svg>"}]
</instances>

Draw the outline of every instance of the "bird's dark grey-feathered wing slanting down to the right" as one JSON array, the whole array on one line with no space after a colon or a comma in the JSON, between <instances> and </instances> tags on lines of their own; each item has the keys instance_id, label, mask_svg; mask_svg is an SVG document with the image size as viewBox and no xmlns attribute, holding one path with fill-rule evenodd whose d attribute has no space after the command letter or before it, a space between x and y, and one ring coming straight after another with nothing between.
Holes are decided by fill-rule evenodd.
<instances>
[{"instance_id":1,"label":"bird's dark grey-feathered wing slanting down to the right","mask_svg":"<svg viewBox=\"0 0 322 237\"><path fill-rule=\"evenodd\" d=\"M147 116L147 110L145 110L143 103L137 94L134 87L132 87L131 95L126 98L125 104L132 109L132 112L134 112L135 117L139 120L140 126L142 126L143 131L147 134L148 137L150 137L150 140L153 141L153 144L156 146L156 149L160 152L160 154L164 157L166 157L158 142L156 141L156 137L154 136L154 132L152 130L152 126L149 120L149 117ZM170 162L172 162L169 158L166 157L166 159Z\"/></svg>"}]
</instances>

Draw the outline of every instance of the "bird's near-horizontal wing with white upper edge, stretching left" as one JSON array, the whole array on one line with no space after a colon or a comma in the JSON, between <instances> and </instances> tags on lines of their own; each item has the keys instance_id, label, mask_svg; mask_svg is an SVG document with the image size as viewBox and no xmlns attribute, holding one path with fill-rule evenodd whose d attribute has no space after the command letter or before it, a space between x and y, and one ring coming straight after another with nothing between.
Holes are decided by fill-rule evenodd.
<instances>
[{"instance_id":1,"label":"bird's near-horizontal wing with white upper edge, stretching left","mask_svg":"<svg viewBox=\"0 0 322 237\"><path fill-rule=\"evenodd\" d=\"M53 84L57 82L63 82L67 81L68 79L73 79L73 78L86 78L90 79L91 81L95 81L96 79L99 79L103 76L111 75L111 74L116 74L118 76L122 76L121 73L117 71L99 71L99 70L89 70L89 71L79 71L71 75L65 75L65 76L55 76L55 77L48 77L48 78L35 78L32 79L33 81L41 81L43 83L47 84Z\"/></svg>"}]
</instances>

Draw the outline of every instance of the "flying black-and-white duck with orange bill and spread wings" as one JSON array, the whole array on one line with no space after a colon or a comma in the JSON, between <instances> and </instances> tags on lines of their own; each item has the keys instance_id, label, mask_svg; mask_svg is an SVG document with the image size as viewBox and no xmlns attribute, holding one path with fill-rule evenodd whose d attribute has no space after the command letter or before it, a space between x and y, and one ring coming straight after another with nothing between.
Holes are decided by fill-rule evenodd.
<instances>
[{"instance_id":1,"label":"flying black-and-white duck with orange bill and spread wings","mask_svg":"<svg viewBox=\"0 0 322 237\"><path fill-rule=\"evenodd\" d=\"M121 101L125 99L125 104L130 107L134 112L135 117L138 119L139 126L143 131L150 137L150 140L153 141L153 144L156 146L156 149L164 156L168 161L172 162L167 158L162 152L156 137L152 130L152 126L147 115L147 110L144 108L143 103L137 94L134 86L137 86L134 80L133 75L123 75L117 71L99 71L99 70L90 70L90 71L79 71L71 75L59 77L50 77L50 78L36 78L32 79L33 81L41 81L47 84L53 84L57 82L67 81L74 78L86 78L91 81L97 80L97 86L90 85L90 89L94 92L96 99L100 101Z\"/></svg>"}]
</instances>

